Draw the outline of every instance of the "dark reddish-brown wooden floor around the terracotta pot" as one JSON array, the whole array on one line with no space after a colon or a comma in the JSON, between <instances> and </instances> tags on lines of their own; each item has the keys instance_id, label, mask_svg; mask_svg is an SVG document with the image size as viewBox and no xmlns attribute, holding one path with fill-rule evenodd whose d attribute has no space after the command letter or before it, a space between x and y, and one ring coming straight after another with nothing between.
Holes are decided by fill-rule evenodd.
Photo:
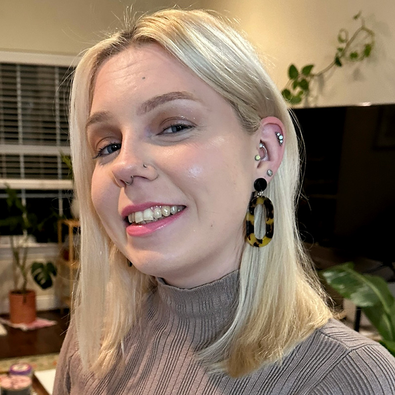
<instances>
[{"instance_id":1,"label":"dark reddish-brown wooden floor around the terracotta pot","mask_svg":"<svg viewBox=\"0 0 395 395\"><path fill-rule=\"evenodd\" d=\"M0 336L0 359L59 353L68 326L68 311L39 312L40 318L57 321L56 325L23 332L5 326L7 334Z\"/></svg>"}]
</instances>

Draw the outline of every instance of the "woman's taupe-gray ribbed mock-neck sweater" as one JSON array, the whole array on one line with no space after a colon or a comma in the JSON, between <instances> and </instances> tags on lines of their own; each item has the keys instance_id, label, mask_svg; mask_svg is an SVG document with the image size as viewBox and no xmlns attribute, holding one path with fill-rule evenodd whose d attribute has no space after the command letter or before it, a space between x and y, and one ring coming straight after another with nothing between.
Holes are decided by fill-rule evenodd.
<instances>
[{"instance_id":1,"label":"woman's taupe-gray ribbed mock-neck sweater","mask_svg":"<svg viewBox=\"0 0 395 395\"><path fill-rule=\"evenodd\" d=\"M158 281L141 328L125 338L126 360L103 379L83 373L73 326L59 357L54 395L395 395L395 358L335 320L281 364L243 378L209 374L194 354L232 316L237 272L191 290Z\"/></svg>"}]
</instances>

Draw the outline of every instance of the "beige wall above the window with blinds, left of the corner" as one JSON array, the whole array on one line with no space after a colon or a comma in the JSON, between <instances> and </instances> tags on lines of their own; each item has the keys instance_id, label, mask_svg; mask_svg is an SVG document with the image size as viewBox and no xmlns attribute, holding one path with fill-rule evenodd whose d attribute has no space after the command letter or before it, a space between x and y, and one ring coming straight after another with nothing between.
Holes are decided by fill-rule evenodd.
<instances>
[{"instance_id":1,"label":"beige wall above the window with blinds, left of the corner","mask_svg":"<svg viewBox=\"0 0 395 395\"><path fill-rule=\"evenodd\" d=\"M173 6L169 0L1 0L0 51L77 55L123 24L123 14ZM180 7L190 1L178 0ZM133 4L130 7L130 4ZM198 1L194 1L198 6Z\"/></svg>"}]
</instances>

